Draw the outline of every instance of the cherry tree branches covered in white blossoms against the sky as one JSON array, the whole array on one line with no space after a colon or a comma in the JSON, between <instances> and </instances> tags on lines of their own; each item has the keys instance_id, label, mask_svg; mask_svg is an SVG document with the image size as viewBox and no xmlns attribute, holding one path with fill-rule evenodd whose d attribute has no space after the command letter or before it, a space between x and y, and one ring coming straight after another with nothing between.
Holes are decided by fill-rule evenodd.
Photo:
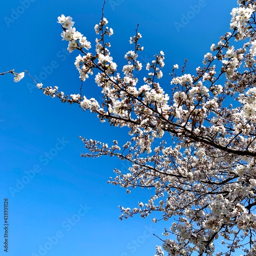
<instances>
[{"instance_id":1,"label":"cherry tree branches covered in white blossoms against the sky","mask_svg":"<svg viewBox=\"0 0 256 256\"><path fill-rule=\"evenodd\" d=\"M133 49L124 55L127 64L118 71L109 51L113 29L103 8L95 26L95 53L72 17L58 17L69 52L79 52L75 66L81 86L94 75L103 103L34 80L44 94L78 104L101 122L130 129L131 139L124 145L80 137L88 151L82 157L106 155L130 162L129 172L114 169L109 183L128 194L136 187L152 189L152 197L138 207L120 206L120 219L155 213L155 223L172 221L163 230L166 238L160 238L157 255L164 255L163 249L168 255L237 255L239 248L244 255L256 255L256 4L238 0L238 5L231 12L230 32L211 45L195 74L185 72L186 61L182 68L173 66L168 94L159 82L164 53L145 67L138 61L143 51L138 28L130 38ZM140 81L137 76L145 70ZM24 76L14 70L0 75L6 73L14 74L14 81ZM216 251L221 240L224 249Z\"/></svg>"}]
</instances>

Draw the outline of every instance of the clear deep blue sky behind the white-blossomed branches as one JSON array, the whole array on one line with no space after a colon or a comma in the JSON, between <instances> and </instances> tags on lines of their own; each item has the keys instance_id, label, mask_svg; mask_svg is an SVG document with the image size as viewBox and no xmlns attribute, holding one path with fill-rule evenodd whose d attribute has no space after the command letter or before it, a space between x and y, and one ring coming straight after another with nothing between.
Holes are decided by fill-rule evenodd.
<instances>
[{"instance_id":1,"label":"clear deep blue sky behind the white-blossomed branches","mask_svg":"<svg viewBox=\"0 0 256 256\"><path fill-rule=\"evenodd\" d=\"M74 27L94 49L94 26L102 4L102 0L3 2L0 73L28 70L44 86L79 93L74 66L78 53L66 50L57 17L72 16ZM181 67L188 58L187 72L202 66L210 45L228 31L232 7L236 1L106 0L105 17L114 30L110 38L114 61L121 72L124 54L133 50L130 36L139 23L144 46L140 60L145 66L154 54L164 51L160 84L169 93L168 74L173 65ZM8 255L154 255L161 241L152 233L161 236L171 223L154 224L154 214L147 219L118 219L118 205L137 207L138 201L147 202L154 191L137 188L127 195L125 189L106 182L114 177L114 167L127 172L129 165L113 158L80 157L85 150L77 136L108 143L116 139L121 144L130 139L127 130L100 123L77 105L43 95L28 76L14 83L7 74L0 77L0 85L0 216L8 198ZM84 83L83 93L101 97L93 77ZM0 238L3 243L4 231ZM5 255L4 248L0 255Z\"/></svg>"}]
</instances>

